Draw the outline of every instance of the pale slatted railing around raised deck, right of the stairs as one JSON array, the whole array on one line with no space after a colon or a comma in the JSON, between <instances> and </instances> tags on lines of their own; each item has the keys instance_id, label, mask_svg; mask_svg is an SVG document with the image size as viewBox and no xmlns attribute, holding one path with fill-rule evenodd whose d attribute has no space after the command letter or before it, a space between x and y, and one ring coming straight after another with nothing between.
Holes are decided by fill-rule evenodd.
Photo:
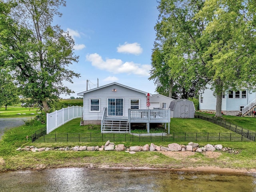
<instances>
[{"instance_id":1,"label":"pale slatted railing around raised deck, right of the stairs","mask_svg":"<svg viewBox=\"0 0 256 192\"><path fill-rule=\"evenodd\" d=\"M128 122L170 122L170 109L128 109Z\"/></svg>"}]
</instances>

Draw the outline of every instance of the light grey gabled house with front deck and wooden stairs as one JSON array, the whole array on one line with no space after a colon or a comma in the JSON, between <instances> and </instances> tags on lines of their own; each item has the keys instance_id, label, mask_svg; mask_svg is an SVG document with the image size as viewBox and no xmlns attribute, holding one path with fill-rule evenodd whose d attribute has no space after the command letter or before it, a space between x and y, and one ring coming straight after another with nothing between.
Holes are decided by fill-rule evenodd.
<instances>
[{"instance_id":1,"label":"light grey gabled house with front deck and wooden stairs","mask_svg":"<svg viewBox=\"0 0 256 192\"><path fill-rule=\"evenodd\" d=\"M148 92L116 82L78 93L83 96L83 123L101 124L101 132L130 132L131 123L168 123L170 110L148 109Z\"/></svg>"}]
</instances>

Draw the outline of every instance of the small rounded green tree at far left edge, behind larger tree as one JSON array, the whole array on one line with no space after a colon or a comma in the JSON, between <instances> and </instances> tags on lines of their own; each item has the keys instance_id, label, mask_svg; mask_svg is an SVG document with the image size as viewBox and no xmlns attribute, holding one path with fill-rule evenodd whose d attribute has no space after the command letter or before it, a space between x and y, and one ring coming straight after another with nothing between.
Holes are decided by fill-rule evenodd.
<instances>
[{"instance_id":1,"label":"small rounded green tree at far left edge, behind larger tree","mask_svg":"<svg viewBox=\"0 0 256 192\"><path fill-rule=\"evenodd\" d=\"M0 106L17 104L19 102L18 89L13 82L8 69L0 67Z\"/></svg>"}]
</instances>

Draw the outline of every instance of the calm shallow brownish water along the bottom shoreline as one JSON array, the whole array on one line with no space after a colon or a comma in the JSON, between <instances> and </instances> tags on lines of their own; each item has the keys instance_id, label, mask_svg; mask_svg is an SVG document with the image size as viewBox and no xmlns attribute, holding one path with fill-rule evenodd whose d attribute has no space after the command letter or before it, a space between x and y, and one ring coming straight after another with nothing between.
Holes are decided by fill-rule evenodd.
<instances>
[{"instance_id":1,"label":"calm shallow brownish water along the bottom shoreline","mask_svg":"<svg viewBox=\"0 0 256 192\"><path fill-rule=\"evenodd\" d=\"M58 168L0 173L0 192L256 192L256 175Z\"/></svg>"}]
</instances>

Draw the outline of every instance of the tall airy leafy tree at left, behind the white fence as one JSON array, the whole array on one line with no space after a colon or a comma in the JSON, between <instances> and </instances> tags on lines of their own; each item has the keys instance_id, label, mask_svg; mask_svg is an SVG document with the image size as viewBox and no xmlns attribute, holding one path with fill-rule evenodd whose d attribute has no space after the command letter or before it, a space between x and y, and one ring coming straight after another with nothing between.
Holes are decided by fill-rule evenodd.
<instances>
[{"instance_id":1,"label":"tall airy leafy tree at left, behind the white fence","mask_svg":"<svg viewBox=\"0 0 256 192\"><path fill-rule=\"evenodd\" d=\"M72 92L63 81L79 77L67 69L78 61L74 40L60 26L51 25L54 15L61 16L58 7L66 6L65 1L9 0L8 4L14 6L7 16L1 13L0 58L14 70L23 95L47 112L52 100Z\"/></svg>"}]
</instances>

